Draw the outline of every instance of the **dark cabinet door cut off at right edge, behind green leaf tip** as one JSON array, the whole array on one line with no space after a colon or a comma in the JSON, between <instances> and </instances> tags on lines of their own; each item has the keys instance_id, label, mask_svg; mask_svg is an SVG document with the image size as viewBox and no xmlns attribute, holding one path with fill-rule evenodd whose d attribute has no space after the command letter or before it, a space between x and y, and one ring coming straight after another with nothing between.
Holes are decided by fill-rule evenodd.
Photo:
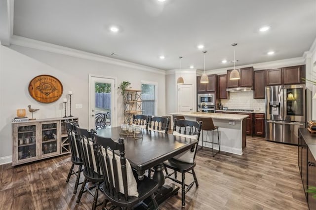
<instances>
[{"instance_id":1,"label":"dark cabinet door cut off at right edge, behind green leaf tip","mask_svg":"<svg viewBox=\"0 0 316 210\"><path fill-rule=\"evenodd\" d=\"M308 149L308 162L307 162L307 180L308 186L316 186L316 160L312 154L312 152L310 151L310 149ZM312 193L307 193L307 201L308 201L308 206L310 208L310 210L316 210L316 199L314 199Z\"/></svg>"}]
</instances>

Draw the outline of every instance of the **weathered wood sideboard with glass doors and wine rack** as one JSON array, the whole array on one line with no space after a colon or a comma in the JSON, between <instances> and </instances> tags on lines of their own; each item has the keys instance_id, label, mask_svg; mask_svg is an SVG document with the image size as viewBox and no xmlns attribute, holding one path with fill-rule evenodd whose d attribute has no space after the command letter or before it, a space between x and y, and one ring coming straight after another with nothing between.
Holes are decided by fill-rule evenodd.
<instances>
[{"instance_id":1,"label":"weathered wood sideboard with glass doors and wine rack","mask_svg":"<svg viewBox=\"0 0 316 210\"><path fill-rule=\"evenodd\" d=\"M70 153L65 120L78 123L77 117L12 122L12 165Z\"/></svg>"}]
</instances>

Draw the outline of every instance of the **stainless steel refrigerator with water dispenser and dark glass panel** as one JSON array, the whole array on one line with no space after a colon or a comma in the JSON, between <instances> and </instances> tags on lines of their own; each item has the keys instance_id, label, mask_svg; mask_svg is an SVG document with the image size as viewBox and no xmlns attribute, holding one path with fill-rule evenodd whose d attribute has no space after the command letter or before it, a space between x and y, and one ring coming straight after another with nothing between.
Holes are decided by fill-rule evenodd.
<instances>
[{"instance_id":1,"label":"stainless steel refrigerator with water dispenser and dark glass panel","mask_svg":"<svg viewBox=\"0 0 316 210\"><path fill-rule=\"evenodd\" d=\"M306 127L305 85L266 87L266 140L298 144Z\"/></svg>"}]
</instances>

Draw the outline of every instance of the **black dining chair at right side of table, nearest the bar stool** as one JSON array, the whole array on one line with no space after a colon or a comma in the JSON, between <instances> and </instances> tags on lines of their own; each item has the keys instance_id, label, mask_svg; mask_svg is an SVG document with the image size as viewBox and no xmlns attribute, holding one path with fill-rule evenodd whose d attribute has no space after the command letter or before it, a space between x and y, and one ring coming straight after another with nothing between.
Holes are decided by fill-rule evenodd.
<instances>
[{"instance_id":1,"label":"black dining chair at right side of table, nearest the bar stool","mask_svg":"<svg viewBox=\"0 0 316 210\"><path fill-rule=\"evenodd\" d=\"M189 120L175 120L172 134L180 137L191 138L198 141L201 127L202 122ZM196 166L196 153L197 144L193 145L190 150L185 151L163 162L164 167L174 170L173 173L165 175L165 178L170 178L171 180L181 184L182 207L185 207L185 194L192 188L194 183L198 187L197 175L194 171L194 167ZM177 172L181 173L182 175L181 181L177 179ZM193 175L194 181L190 184L185 183L185 173L190 173ZM174 178L170 177L171 175L174 175Z\"/></svg>"}]
</instances>

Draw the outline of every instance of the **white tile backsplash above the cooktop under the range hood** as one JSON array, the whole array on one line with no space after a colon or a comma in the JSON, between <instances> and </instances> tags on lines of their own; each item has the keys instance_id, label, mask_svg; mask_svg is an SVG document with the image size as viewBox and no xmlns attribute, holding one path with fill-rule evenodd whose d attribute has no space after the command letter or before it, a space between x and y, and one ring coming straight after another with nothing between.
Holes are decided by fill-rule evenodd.
<instances>
[{"instance_id":1,"label":"white tile backsplash above the cooktop under the range hood","mask_svg":"<svg viewBox=\"0 0 316 210\"><path fill-rule=\"evenodd\" d=\"M253 99L253 91L230 92L229 99L221 99L223 106L228 108L254 109L256 111L265 111L264 99Z\"/></svg>"}]
</instances>

